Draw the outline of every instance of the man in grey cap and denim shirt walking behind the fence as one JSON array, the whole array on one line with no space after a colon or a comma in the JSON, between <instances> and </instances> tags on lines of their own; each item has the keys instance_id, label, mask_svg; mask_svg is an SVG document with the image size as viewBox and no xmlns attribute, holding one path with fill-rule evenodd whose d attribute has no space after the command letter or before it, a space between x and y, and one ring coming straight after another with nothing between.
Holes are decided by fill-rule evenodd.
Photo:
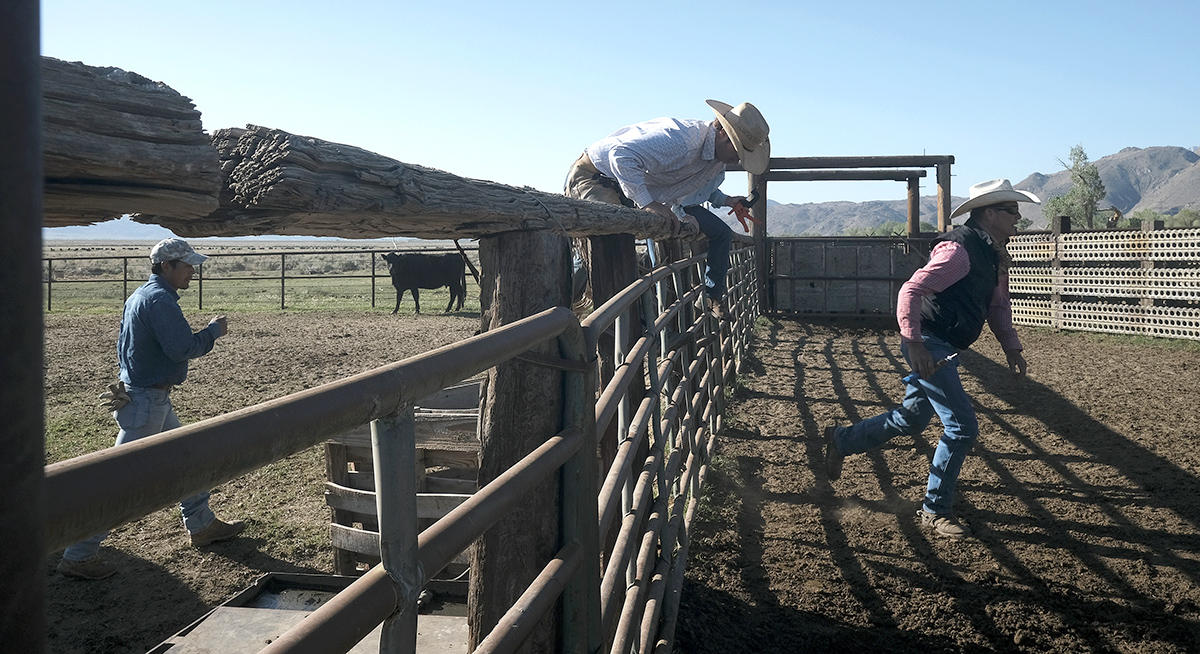
<instances>
[{"instance_id":1,"label":"man in grey cap and denim shirt walking behind the fence","mask_svg":"<svg viewBox=\"0 0 1200 654\"><path fill-rule=\"evenodd\" d=\"M192 332L179 308L179 290L191 284L197 265L208 259L182 239L163 239L150 250L150 280L125 301L116 356L121 364L120 383L102 395L121 431L122 445L180 426L170 404L170 391L187 378L187 361L212 350L228 331L224 316L217 316L200 331ZM241 533L245 523L223 522L209 508L209 493L202 492L179 503L184 527L192 545L203 547ZM98 556L108 534L96 534L71 545L62 553L58 570L68 577L102 580L116 569Z\"/></svg>"}]
</instances>

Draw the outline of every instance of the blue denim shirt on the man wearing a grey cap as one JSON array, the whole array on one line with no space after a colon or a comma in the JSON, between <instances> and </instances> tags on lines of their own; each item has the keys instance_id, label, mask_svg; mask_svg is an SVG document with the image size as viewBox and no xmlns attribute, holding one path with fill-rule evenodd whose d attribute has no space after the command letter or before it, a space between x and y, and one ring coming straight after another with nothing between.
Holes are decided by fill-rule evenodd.
<instances>
[{"instance_id":1,"label":"blue denim shirt on the man wearing a grey cap","mask_svg":"<svg viewBox=\"0 0 1200 654\"><path fill-rule=\"evenodd\" d=\"M125 300L116 358L121 380L130 386L181 384L187 360L204 356L216 342L216 325L196 334L179 308L179 293L158 275Z\"/></svg>"}]
</instances>

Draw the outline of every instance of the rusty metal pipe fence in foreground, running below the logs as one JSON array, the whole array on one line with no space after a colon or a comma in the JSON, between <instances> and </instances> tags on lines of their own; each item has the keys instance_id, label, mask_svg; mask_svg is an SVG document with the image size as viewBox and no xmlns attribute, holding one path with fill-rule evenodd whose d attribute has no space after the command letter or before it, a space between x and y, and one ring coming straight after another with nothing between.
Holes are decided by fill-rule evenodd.
<instances>
[{"instance_id":1,"label":"rusty metal pipe fence in foreground, running below the logs","mask_svg":"<svg viewBox=\"0 0 1200 654\"><path fill-rule=\"evenodd\" d=\"M546 310L347 379L48 466L44 547L61 548L371 422L383 563L263 652L347 652L380 623L380 652L413 652L425 571L442 569L556 474L562 545L476 652L516 650L556 607L563 652L670 650L691 516L725 394L761 313L754 256L745 246L731 253L726 320L704 311L697 282L704 257L694 257L644 275L582 324L566 308ZM618 336L611 346L601 337L610 332ZM414 469L404 464L414 456L414 398L550 340L574 362L563 368L564 430L416 535ZM604 347L614 348L617 365L598 389L593 366ZM596 474L598 439L614 420L618 455L596 493L586 480ZM599 550L620 505L618 545L601 571Z\"/></svg>"}]
</instances>

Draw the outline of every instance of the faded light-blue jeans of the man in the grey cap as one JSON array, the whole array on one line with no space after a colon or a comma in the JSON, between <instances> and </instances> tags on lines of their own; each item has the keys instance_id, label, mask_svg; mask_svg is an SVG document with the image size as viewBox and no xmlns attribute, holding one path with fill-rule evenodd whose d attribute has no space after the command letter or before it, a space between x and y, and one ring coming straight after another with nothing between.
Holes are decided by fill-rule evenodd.
<instances>
[{"instance_id":1,"label":"faded light-blue jeans of the man in the grey cap","mask_svg":"<svg viewBox=\"0 0 1200 654\"><path fill-rule=\"evenodd\" d=\"M158 432L174 430L179 425L179 416L175 415L174 407L170 406L170 394L162 389L144 389L127 386L130 403L113 412L121 431L116 434L116 445L154 436ZM204 529L216 516L209 508L209 493L197 493L179 503L184 514L184 527L188 532L196 533ZM108 532L96 534L89 539L80 540L71 545L62 552L62 558L68 560L83 560L96 556L100 544L108 538Z\"/></svg>"}]
</instances>

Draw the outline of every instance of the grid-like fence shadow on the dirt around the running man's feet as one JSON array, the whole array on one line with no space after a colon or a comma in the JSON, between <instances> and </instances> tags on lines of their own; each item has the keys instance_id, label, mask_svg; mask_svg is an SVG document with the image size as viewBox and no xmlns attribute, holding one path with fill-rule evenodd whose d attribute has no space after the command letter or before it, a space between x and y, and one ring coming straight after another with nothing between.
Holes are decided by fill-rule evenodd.
<instances>
[{"instance_id":1,"label":"grid-like fence shadow on the dirt around the running man's feet","mask_svg":"<svg viewBox=\"0 0 1200 654\"><path fill-rule=\"evenodd\" d=\"M1200 551L1200 480L1037 378L1014 378L1002 359L967 352L961 364L983 386L977 412L989 430L972 454L974 472L960 485L959 509L976 538L940 540L912 517L941 430L936 418L920 437L899 437L856 461L851 476L858 479L844 475L830 484L822 427L869 418L902 397L898 377L906 365L894 330L781 320L758 330L749 368L775 376L770 389L782 388L784 373L794 374L794 397L758 390L752 379L736 397L721 450L736 466L714 473L710 502L737 508L736 518L733 512L725 518L736 522L730 551L738 578L691 580L685 604L700 607L689 608L691 622L682 619L680 634L690 626L700 636L690 636L682 650L722 650L722 634L745 634L748 624L755 634L772 634L764 652L958 650L966 643L1106 650L1120 642L1114 634L1169 650L1200 644L1194 629L1200 607L1190 593L1170 590L1200 583L1200 563L1187 554ZM749 410L739 404L748 403L754 414L739 415ZM781 404L794 415L763 416ZM785 427L758 428L763 420ZM1043 434L1031 438L1033 430ZM788 463L799 470L791 479L780 473ZM1099 469L1099 476L1078 472L1081 467ZM1097 481L1105 475L1111 480ZM1062 512L1063 503L1079 511ZM1154 522L1154 515L1171 514L1182 522ZM796 516L793 533L786 534L790 526L780 515ZM814 572L814 557L832 565L835 578ZM787 577L804 581L797 588ZM910 599L898 604L896 595ZM727 614L704 607L718 601L728 605ZM937 620L968 636L958 642L917 636L920 622ZM784 644L780 634L793 640Z\"/></svg>"}]
</instances>

